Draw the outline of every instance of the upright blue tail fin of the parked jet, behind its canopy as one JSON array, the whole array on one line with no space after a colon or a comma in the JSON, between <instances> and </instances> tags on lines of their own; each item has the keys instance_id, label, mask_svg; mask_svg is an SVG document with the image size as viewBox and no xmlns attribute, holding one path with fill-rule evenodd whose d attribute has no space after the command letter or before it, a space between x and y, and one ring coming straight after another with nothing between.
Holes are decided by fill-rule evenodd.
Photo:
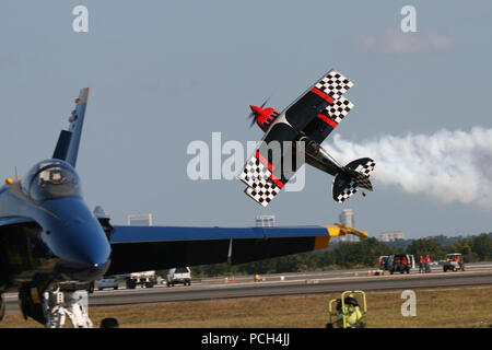
<instances>
[{"instance_id":1,"label":"upright blue tail fin of the parked jet, behind its canopy","mask_svg":"<svg viewBox=\"0 0 492 350\"><path fill-rule=\"evenodd\" d=\"M75 100L75 109L69 118L69 130L61 130L57 147L52 154L54 159L62 160L75 167L77 155L79 154L80 138L84 124L85 107L87 105L89 88L84 88Z\"/></svg>"}]
</instances>

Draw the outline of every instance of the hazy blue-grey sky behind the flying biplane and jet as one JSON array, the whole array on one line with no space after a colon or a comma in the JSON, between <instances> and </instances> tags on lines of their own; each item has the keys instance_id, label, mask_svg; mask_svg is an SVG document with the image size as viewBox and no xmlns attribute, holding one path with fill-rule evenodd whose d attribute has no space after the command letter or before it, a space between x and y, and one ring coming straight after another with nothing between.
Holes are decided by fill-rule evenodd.
<instances>
[{"instance_id":1,"label":"hazy blue-grey sky behind the flying biplane and jet","mask_svg":"<svg viewBox=\"0 0 492 350\"><path fill-rule=\"evenodd\" d=\"M89 10L87 33L72 28L79 4ZM415 33L400 27L407 4ZM211 147L212 132L222 144L261 139L248 105L272 94L269 104L282 110L331 68L354 82L347 97L355 107L327 144L336 135L362 145L433 140L443 130L472 138L475 127L485 131L480 174L492 174L491 19L485 1L2 1L0 174L16 165L22 175L50 158L74 97L90 86L78 171L89 206L103 206L114 224L139 212L160 225L247 226L258 214L280 225L331 224L351 208L371 235L491 232L492 208L478 198L385 180L393 167L376 148L365 149L383 153L361 156L384 159L386 173L374 174L374 192L343 205L331 198L332 177L313 168L304 190L282 191L266 209L237 179L187 175L190 142ZM468 182L453 179L465 197ZM476 197L492 196L489 184Z\"/></svg>"}]
</instances>

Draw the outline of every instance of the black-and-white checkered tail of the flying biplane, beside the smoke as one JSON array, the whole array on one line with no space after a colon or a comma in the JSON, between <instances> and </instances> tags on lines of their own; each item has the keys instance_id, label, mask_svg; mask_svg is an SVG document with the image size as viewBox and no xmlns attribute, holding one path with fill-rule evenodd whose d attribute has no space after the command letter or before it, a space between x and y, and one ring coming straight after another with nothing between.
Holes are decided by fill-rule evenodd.
<instances>
[{"instance_id":1,"label":"black-and-white checkered tail of the flying biplane, beside the smoke","mask_svg":"<svg viewBox=\"0 0 492 350\"><path fill-rule=\"evenodd\" d=\"M368 177L375 165L376 163L372 159L361 158L341 168L335 176L331 185L333 199L338 202L343 202L353 196L359 187L373 190Z\"/></svg>"}]
</instances>

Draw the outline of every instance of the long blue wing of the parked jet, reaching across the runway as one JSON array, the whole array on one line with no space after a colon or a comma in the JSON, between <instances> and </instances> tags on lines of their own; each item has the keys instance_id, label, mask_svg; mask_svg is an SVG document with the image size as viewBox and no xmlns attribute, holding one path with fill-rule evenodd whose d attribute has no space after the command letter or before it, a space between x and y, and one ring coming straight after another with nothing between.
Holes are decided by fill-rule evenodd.
<instances>
[{"instance_id":1,"label":"long blue wing of the parked jet, reaching across the runway","mask_svg":"<svg viewBox=\"0 0 492 350\"><path fill-rule=\"evenodd\" d=\"M226 262L233 265L328 247L332 228L114 226L106 275Z\"/></svg>"}]
</instances>

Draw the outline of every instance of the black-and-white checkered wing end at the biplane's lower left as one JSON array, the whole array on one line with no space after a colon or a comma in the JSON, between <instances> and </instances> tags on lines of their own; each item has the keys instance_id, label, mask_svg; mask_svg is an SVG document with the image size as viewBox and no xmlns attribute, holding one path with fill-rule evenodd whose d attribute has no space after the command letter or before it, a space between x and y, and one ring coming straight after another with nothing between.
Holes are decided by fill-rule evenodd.
<instances>
[{"instance_id":1,"label":"black-and-white checkered wing end at the biplane's lower left","mask_svg":"<svg viewBox=\"0 0 492 350\"><path fill-rule=\"evenodd\" d=\"M255 153L246 162L238 178L248 185L245 194L261 206L267 207L281 189L271 180L271 175L268 166L261 163Z\"/></svg>"}]
</instances>

